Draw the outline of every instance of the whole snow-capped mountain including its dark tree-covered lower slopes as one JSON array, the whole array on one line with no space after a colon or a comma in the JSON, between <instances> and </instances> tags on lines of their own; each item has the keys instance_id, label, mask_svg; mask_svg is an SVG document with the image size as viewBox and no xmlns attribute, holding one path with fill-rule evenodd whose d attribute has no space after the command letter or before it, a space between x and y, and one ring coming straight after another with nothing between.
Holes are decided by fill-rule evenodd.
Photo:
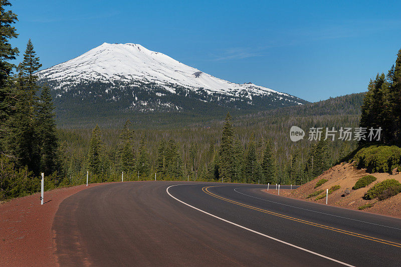
<instances>
[{"instance_id":1,"label":"whole snow-capped mountain including its dark tree-covered lower slopes","mask_svg":"<svg viewBox=\"0 0 401 267\"><path fill-rule=\"evenodd\" d=\"M100 104L139 111L202 109L202 103L236 109L267 109L306 103L263 86L234 83L134 43L103 43L37 72L58 109Z\"/></svg>"}]
</instances>

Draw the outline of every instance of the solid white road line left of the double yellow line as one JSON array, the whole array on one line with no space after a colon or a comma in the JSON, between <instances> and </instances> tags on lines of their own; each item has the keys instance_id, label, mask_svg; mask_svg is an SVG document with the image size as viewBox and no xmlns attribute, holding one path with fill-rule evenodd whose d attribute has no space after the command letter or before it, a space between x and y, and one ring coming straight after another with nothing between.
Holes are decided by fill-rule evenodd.
<instances>
[{"instance_id":1,"label":"solid white road line left of the double yellow line","mask_svg":"<svg viewBox=\"0 0 401 267\"><path fill-rule=\"evenodd\" d=\"M190 183L189 183L189 184L190 184ZM192 184L193 184L193 183L192 183ZM192 184L191 184L191 185L192 185ZM264 234L264 233L261 233L261 232L252 230L252 229L250 229L250 228L247 228L247 227L242 226L242 225L240 225L240 224L237 224L237 223L235 223L235 222L232 222L232 221L229 221L229 220L227 220L227 219L224 219L224 218L218 217L218 216L216 216L216 215L213 215L213 214L211 214L211 213L209 213L209 212L206 212L205 210L202 210L202 209L200 209L200 208L194 207L194 206L192 206L192 205L190 205L190 204L188 204L188 203L185 203L184 201L179 200L178 198L176 198L175 196L173 196L172 194L170 194L170 192L168 191L168 189L169 189L170 187L172 187L172 186L177 186L177 185L185 185L185 183L183 183L183 184L174 184L174 185L170 185L170 186L168 186L168 187L166 188L166 192L167 192L167 194L168 194L169 196L171 196L172 198L174 198L174 199L177 200L178 202L181 202L182 204L185 204L185 205L187 205L187 206L189 206L189 207L191 207L191 208L194 208L194 209L196 209L196 210L198 210L198 211L200 211L200 212L203 212L203 213L205 213L205 214L208 214L208 215L210 215L210 216L212 216L212 217L215 217L215 218L218 218L218 219L223 220L223 221L225 221L225 222L228 222L228 223L230 223L230 224L233 224L233 225L235 225L235 226L237 226L237 227L240 227L240 228L246 229L246 230L248 230L248 231L257 233L257 234L259 234L259 235L265 236L265 237L267 237L267 238L273 239L273 240L278 241L278 242L280 242L280 243L283 243L283 244L286 244L286 245L289 245L289 246L292 246L292 247L301 249L301 250L303 250L303 251L309 252L309 253L311 253L311 254L314 254L314 255L317 255L317 256L320 256L320 257L329 259L329 260L332 260L332 261L334 261L334 262L343 264L343 265L345 265L345 266L355 267L354 265L351 265L351 264L348 264L348 263L339 261L339 260L337 260L337 259L334 259L334 258L325 256L325 255L322 255L322 254L319 254L319 253L317 253L317 252L313 252L313 251L308 250L308 249L306 249L306 248L303 248L303 247L300 247L300 246L297 246L297 245L288 243L288 242L286 242L286 241L283 241L283 240L274 238L274 237L269 236L269 235L267 235L267 234Z\"/></svg>"}]
</instances>

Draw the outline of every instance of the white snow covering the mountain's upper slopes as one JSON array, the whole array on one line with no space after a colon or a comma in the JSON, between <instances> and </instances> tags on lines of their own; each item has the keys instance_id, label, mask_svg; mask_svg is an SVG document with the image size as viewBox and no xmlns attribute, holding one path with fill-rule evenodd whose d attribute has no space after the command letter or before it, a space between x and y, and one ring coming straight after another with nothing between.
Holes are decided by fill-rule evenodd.
<instances>
[{"instance_id":1,"label":"white snow covering the mountain's upper slopes","mask_svg":"<svg viewBox=\"0 0 401 267\"><path fill-rule=\"evenodd\" d=\"M175 93L171 84L177 84L191 90L203 88L207 93L245 95L250 100L253 95L273 93L294 104L302 103L297 97L253 83L239 84L214 77L134 43L105 42L76 58L41 70L37 75L41 80L55 81L57 87L64 90L58 92L59 95L68 90L67 84L78 84L82 81L142 81L159 84L171 93Z\"/></svg>"}]
</instances>

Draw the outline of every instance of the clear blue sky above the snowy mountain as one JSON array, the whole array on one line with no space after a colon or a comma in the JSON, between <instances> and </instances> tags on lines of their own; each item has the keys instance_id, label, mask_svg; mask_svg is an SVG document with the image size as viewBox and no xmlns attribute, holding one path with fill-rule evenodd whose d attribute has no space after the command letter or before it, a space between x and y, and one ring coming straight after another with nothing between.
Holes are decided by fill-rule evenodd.
<instances>
[{"instance_id":1,"label":"clear blue sky above the snowy mountain","mask_svg":"<svg viewBox=\"0 0 401 267\"><path fill-rule=\"evenodd\" d=\"M13 44L23 54L31 38L43 68L103 42L133 42L309 101L366 90L401 48L401 1L11 2Z\"/></svg>"}]
</instances>

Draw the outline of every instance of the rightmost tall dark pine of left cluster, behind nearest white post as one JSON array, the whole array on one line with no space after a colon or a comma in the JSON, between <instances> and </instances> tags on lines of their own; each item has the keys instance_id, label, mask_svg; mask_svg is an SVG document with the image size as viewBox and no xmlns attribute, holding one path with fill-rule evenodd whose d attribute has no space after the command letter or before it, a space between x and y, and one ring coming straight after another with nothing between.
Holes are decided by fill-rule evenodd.
<instances>
[{"instance_id":1,"label":"rightmost tall dark pine of left cluster, behind nearest white post","mask_svg":"<svg viewBox=\"0 0 401 267\"><path fill-rule=\"evenodd\" d=\"M57 168L58 136L56 129L54 105L48 87L42 88L38 104L37 122L39 130L39 146L41 171L52 174Z\"/></svg>"}]
</instances>

